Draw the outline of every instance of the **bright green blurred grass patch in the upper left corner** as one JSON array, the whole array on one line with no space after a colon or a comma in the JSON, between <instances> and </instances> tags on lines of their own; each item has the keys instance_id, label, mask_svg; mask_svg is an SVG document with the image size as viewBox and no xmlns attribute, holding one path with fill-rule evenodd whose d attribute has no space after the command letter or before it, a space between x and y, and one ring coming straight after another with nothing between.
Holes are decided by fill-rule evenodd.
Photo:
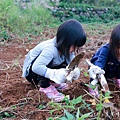
<instances>
[{"instance_id":1,"label":"bright green blurred grass patch in the upper left corner","mask_svg":"<svg viewBox=\"0 0 120 120\"><path fill-rule=\"evenodd\" d=\"M44 28L58 23L38 0L24 4L17 0L0 0L0 38L4 35L7 39L10 32L20 37L38 35Z\"/></svg>"}]
</instances>

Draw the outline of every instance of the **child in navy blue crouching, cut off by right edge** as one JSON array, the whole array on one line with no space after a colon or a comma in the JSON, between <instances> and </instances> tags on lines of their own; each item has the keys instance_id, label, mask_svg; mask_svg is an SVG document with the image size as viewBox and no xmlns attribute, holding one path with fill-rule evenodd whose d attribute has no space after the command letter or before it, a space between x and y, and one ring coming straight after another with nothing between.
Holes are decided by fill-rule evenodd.
<instances>
[{"instance_id":1,"label":"child in navy blue crouching, cut off by right edge","mask_svg":"<svg viewBox=\"0 0 120 120\"><path fill-rule=\"evenodd\" d=\"M105 73L106 80L112 81L120 88L120 24L117 25L110 37L108 44L103 45L92 57L91 63L95 66L90 67L90 82L94 82L92 78L94 71ZM98 96L98 87L94 90L88 89L90 94Z\"/></svg>"}]
</instances>

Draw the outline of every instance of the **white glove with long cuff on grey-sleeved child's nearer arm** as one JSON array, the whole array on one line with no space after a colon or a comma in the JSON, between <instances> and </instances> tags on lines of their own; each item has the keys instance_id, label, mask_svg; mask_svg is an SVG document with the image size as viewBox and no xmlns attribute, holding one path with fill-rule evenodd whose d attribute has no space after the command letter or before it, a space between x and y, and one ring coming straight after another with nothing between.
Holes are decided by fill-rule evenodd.
<instances>
[{"instance_id":1,"label":"white glove with long cuff on grey-sleeved child's nearer arm","mask_svg":"<svg viewBox=\"0 0 120 120\"><path fill-rule=\"evenodd\" d=\"M65 68L61 68L61 69L47 68L45 77L49 78L51 81L54 81L55 83L61 84L66 81L67 74L68 71Z\"/></svg>"}]
</instances>

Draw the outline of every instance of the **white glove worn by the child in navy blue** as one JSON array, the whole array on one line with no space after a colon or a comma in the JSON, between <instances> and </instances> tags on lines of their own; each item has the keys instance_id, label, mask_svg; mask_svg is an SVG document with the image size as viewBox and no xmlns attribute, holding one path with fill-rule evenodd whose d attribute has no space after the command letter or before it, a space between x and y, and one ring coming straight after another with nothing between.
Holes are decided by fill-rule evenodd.
<instances>
[{"instance_id":1,"label":"white glove worn by the child in navy blue","mask_svg":"<svg viewBox=\"0 0 120 120\"><path fill-rule=\"evenodd\" d=\"M105 74L105 71L102 70L100 67L94 65L90 67L88 73L90 75L90 78L96 79L97 74Z\"/></svg>"}]
</instances>

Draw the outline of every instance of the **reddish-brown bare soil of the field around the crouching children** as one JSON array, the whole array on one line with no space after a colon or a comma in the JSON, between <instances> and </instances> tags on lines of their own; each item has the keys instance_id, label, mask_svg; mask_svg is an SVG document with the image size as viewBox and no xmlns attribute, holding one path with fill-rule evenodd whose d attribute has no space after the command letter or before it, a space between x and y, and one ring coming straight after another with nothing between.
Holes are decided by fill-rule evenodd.
<instances>
[{"instance_id":1,"label":"reddish-brown bare soil of the field around the crouching children","mask_svg":"<svg viewBox=\"0 0 120 120\"><path fill-rule=\"evenodd\" d=\"M22 66L25 55L28 51L33 48L36 44L42 40L47 40L52 38L54 35L54 29L46 30L43 32L41 37L32 37L32 41L29 41L27 38L24 38L21 42L21 39L14 38L14 40L9 40L2 42L0 44L0 118L4 119L27 119L27 120L47 120L49 117L62 116L63 110L55 111L50 114L52 108L48 105L50 99L48 99L44 94L40 93L39 90L32 86L26 79L21 77ZM108 34L107 34L108 35ZM85 59L90 59L93 53L99 48L102 44L106 43L109 40L109 36L102 37L102 40L99 40L99 36L90 40L83 49L87 50L85 57L82 59L79 67L81 68L81 76L79 80L69 83L69 88L62 91L65 95L70 95L70 100L77 98L80 95L83 95L83 99L86 103L90 103L90 99L93 99L86 91L87 87L84 85L89 82L89 77L85 76L84 72L87 72L87 64ZM88 36L89 37L89 36ZM44 38L44 39L43 39ZM112 99L110 101L114 104L110 110L113 116L113 120L119 120L120 118L120 89L114 85L109 84L111 91L116 91L112 93ZM62 102L61 104L65 104ZM46 106L43 109L38 108L38 106ZM78 105L80 106L80 105ZM95 111L95 106L91 106ZM81 113L90 112L87 108L83 109ZM107 114L105 114L106 109L101 113L101 117L106 120ZM9 113L11 116L7 116L6 113ZM15 118L11 118L15 115ZM93 118L95 118L95 115ZM89 118L90 120L92 118Z\"/></svg>"}]
</instances>

